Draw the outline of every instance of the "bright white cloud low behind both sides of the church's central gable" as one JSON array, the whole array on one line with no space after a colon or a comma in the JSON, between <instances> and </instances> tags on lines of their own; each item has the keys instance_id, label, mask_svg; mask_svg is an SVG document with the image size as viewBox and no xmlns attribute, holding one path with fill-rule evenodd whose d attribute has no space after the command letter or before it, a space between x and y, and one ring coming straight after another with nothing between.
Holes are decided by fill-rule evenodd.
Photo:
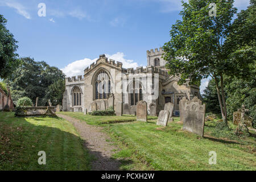
<instances>
[{"instance_id":1,"label":"bright white cloud low behind both sides of the church's central gable","mask_svg":"<svg viewBox=\"0 0 256 182\"><path fill-rule=\"evenodd\" d=\"M123 63L123 68L138 67L138 63L134 62L134 60L125 59L124 58L125 55L122 52L117 52L113 55L106 55L106 57ZM91 60L91 59L85 58L82 60L77 60L71 64L68 64L66 67L62 68L61 70L65 73L67 77L84 75L84 69L86 67L89 67L90 64L94 63L97 59L98 58Z\"/></svg>"}]
</instances>

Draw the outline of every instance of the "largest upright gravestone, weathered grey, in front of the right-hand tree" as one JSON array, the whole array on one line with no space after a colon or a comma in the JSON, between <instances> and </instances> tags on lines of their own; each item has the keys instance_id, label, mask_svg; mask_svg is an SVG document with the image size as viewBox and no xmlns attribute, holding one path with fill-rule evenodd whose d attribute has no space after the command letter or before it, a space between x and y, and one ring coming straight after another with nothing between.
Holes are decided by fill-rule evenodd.
<instances>
[{"instance_id":1,"label":"largest upright gravestone, weathered grey, in front of the right-hand tree","mask_svg":"<svg viewBox=\"0 0 256 182\"><path fill-rule=\"evenodd\" d=\"M184 107L183 129L204 137L205 104L186 102Z\"/></svg>"}]
</instances>

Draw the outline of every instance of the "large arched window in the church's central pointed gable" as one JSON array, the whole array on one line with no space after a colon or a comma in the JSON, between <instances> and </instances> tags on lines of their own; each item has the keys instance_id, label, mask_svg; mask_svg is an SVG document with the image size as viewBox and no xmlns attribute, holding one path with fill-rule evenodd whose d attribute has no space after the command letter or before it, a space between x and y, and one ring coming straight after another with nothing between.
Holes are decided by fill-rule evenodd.
<instances>
[{"instance_id":1,"label":"large arched window in the church's central pointed gable","mask_svg":"<svg viewBox=\"0 0 256 182\"><path fill-rule=\"evenodd\" d=\"M110 94L110 77L106 71L100 71L95 81L95 99L109 98Z\"/></svg>"}]
</instances>

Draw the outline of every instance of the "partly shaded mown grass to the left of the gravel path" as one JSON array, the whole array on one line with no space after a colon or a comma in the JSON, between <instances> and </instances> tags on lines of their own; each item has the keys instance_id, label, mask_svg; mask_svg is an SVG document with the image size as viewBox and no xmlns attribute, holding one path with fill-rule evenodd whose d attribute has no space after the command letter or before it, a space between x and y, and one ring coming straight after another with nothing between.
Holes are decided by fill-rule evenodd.
<instances>
[{"instance_id":1,"label":"partly shaded mown grass to the left of the gravel path","mask_svg":"<svg viewBox=\"0 0 256 182\"><path fill-rule=\"evenodd\" d=\"M38 164L39 151L46 152L46 165ZM68 121L0 112L0 171L89 170L91 160Z\"/></svg>"}]
</instances>

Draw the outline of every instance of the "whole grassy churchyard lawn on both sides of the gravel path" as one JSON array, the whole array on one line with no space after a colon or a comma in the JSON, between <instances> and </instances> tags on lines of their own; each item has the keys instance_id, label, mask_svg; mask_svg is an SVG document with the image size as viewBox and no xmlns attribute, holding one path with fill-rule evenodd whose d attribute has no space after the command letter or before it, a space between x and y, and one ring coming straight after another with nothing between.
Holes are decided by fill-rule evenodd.
<instances>
[{"instance_id":1,"label":"whole grassy churchyard lawn on both sides of the gravel path","mask_svg":"<svg viewBox=\"0 0 256 182\"><path fill-rule=\"evenodd\" d=\"M121 162L122 170L256 170L255 138L236 137L232 123L232 130L220 132L214 128L217 119L206 122L202 138L181 130L178 117L160 127L156 117L145 123L133 115L59 114L102 127L108 142L118 148L112 158ZM58 117L1 112L0 151L0 170L90 170L95 160L72 123ZM39 151L46 151L46 165L38 164ZM217 164L209 164L210 151L216 152Z\"/></svg>"}]
</instances>

